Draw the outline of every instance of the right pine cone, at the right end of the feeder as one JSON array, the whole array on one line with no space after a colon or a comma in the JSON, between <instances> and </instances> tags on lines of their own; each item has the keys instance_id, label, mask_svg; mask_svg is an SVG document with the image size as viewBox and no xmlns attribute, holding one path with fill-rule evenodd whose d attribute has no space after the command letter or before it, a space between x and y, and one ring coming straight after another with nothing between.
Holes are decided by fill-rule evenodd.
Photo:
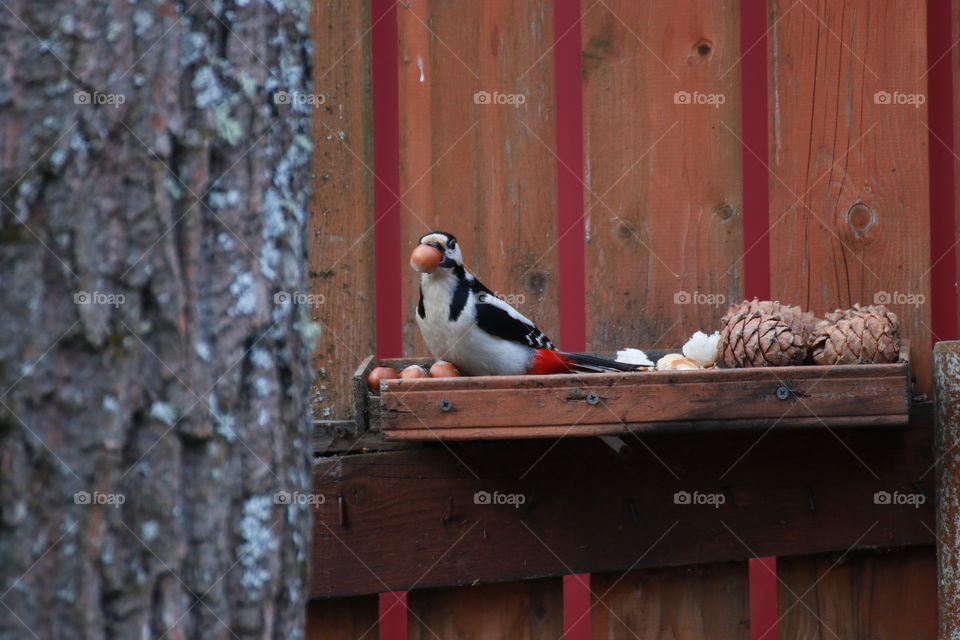
<instances>
[{"instance_id":1,"label":"right pine cone, at the right end of the feeder","mask_svg":"<svg viewBox=\"0 0 960 640\"><path fill-rule=\"evenodd\" d=\"M883 305L828 313L810 338L817 364L869 364L900 358L900 323Z\"/></svg>"}]
</instances>

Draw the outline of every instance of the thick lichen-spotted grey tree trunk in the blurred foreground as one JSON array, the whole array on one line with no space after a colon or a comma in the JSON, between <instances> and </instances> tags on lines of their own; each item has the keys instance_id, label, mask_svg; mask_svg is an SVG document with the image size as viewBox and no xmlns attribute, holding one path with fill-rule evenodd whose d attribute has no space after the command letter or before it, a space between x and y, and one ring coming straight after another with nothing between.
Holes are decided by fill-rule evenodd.
<instances>
[{"instance_id":1,"label":"thick lichen-spotted grey tree trunk in the blurred foreground","mask_svg":"<svg viewBox=\"0 0 960 640\"><path fill-rule=\"evenodd\" d=\"M0 638L302 637L308 2L2 5Z\"/></svg>"}]
</instances>

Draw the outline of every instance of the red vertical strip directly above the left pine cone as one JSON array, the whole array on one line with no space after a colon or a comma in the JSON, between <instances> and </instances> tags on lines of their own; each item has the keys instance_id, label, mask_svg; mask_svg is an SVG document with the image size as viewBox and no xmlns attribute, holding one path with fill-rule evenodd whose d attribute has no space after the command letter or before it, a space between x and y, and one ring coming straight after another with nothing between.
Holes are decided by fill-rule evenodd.
<instances>
[{"instance_id":1,"label":"red vertical strip directly above the left pine cone","mask_svg":"<svg viewBox=\"0 0 960 640\"><path fill-rule=\"evenodd\" d=\"M740 18L743 101L743 289L770 297L769 175L767 169L767 3L743 0Z\"/></svg>"}]
</instances>

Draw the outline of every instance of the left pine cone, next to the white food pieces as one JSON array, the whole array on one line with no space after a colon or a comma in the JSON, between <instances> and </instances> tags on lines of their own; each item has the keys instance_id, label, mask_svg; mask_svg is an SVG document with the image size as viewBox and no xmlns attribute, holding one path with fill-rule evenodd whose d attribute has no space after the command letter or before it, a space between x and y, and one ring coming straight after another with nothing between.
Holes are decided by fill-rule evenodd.
<instances>
[{"instance_id":1,"label":"left pine cone, next to the white food pieces","mask_svg":"<svg viewBox=\"0 0 960 640\"><path fill-rule=\"evenodd\" d=\"M723 318L720 329L720 362L724 367L782 367L800 364L806 341L780 316L760 309L740 311Z\"/></svg>"}]
</instances>

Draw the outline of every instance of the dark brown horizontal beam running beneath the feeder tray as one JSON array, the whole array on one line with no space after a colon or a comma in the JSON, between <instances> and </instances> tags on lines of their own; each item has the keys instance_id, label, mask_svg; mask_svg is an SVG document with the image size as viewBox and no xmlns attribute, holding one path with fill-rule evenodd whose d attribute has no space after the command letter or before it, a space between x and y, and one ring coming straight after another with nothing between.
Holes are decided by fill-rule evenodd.
<instances>
[{"instance_id":1,"label":"dark brown horizontal beam running beneath the feeder tray","mask_svg":"<svg viewBox=\"0 0 960 640\"><path fill-rule=\"evenodd\" d=\"M626 440L626 458L586 439L324 460L314 467L327 499L315 512L311 593L382 591L380 579L405 589L933 541L932 510L874 500L878 487L911 492L918 480L932 495L929 411L907 428ZM482 491L490 503L483 494L475 501ZM684 491L690 502L694 492L699 502L726 499L719 508L683 504L675 494ZM511 494L524 496L519 508L494 504Z\"/></svg>"}]
</instances>

